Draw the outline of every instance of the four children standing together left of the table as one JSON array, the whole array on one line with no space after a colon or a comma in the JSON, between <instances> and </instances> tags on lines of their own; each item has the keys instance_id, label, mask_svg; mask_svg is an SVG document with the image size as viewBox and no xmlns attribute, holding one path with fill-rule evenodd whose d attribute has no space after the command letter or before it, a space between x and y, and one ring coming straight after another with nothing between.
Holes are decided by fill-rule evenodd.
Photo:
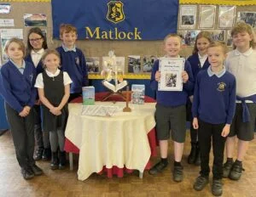
<instances>
[{"instance_id":1,"label":"four children standing together left of the table","mask_svg":"<svg viewBox=\"0 0 256 197\"><path fill-rule=\"evenodd\" d=\"M61 47L47 49L44 33L35 27L28 32L27 49L18 38L4 49L9 61L0 70L0 93L25 179L43 173L35 160L51 158L52 170L65 167L67 103L88 85L84 54L75 46L77 29L61 25L60 37Z\"/></svg>"}]
</instances>

